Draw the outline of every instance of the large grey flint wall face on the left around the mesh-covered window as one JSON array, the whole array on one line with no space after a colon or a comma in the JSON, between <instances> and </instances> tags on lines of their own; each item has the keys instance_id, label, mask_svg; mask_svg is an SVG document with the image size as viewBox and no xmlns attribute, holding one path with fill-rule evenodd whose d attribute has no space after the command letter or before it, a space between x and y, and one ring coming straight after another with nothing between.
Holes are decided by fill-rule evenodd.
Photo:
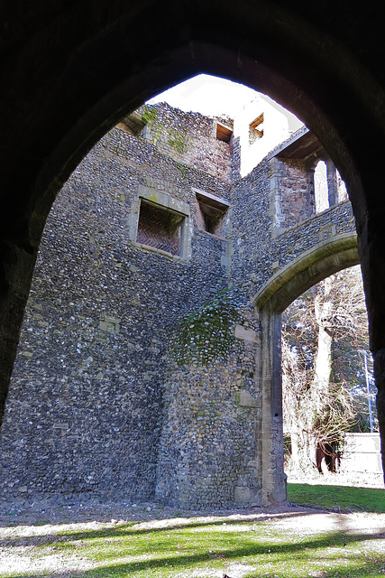
<instances>
[{"instance_id":1,"label":"large grey flint wall face on the left around the mesh-covered window","mask_svg":"<svg viewBox=\"0 0 385 578\"><path fill-rule=\"evenodd\" d=\"M191 255L129 238L139 187L189 206ZM195 226L192 188L224 180L114 129L60 191L47 221L1 436L3 496L154 495L179 321L227 285L227 242Z\"/></svg>"}]
</instances>

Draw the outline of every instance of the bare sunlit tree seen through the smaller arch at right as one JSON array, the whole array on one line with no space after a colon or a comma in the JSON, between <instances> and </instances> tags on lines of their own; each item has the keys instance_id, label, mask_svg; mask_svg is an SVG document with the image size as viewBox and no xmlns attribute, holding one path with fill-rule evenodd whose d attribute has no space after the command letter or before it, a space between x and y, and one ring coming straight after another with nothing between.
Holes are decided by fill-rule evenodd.
<instances>
[{"instance_id":1,"label":"bare sunlit tree seen through the smaller arch at right","mask_svg":"<svg viewBox=\"0 0 385 578\"><path fill-rule=\"evenodd\" d=\"M284 429L291 437L295 467L314 465L317 446L333 444L336 449L344 432L357 423L353 394L364 382L360 351L368 349L359 267L328 277L284 313Z\"/></svg>"}]
</instances>

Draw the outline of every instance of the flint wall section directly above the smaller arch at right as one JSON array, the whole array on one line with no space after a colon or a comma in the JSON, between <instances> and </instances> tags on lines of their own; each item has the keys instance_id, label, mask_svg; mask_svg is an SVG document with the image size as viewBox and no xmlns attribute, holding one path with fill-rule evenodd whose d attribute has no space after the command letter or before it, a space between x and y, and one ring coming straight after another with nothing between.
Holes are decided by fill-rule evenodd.
<instances>
[{"instance_id":1,"label":"flint wall section directly above the smaller arch at right","mask_svg":"<svg viewBox=\"0 0 385 578\"><path fill-rule=\"evenodd\" d=\"M291 171L295 165L290 164ZM305 177L303 164L299 163L298 166L300 183ZM310 249L339 236L356 235L349 200L318 214L312 214L314 205L311 204L308 209L310 217L307 217L307 210L298 210L294 225L282 228L282 221L277 220L277 211L280 213L277 202L280 201L277 201L276 169L277 160L268 158L233 187L232 282L251 297L280 268L293 263ZM288 199L293 196L293 178L292 173L288 188L285 188L285 180L280 181L284 210L287 210ZM298 188L301 188L300 184ZM307 193L310 195L310 191ZM299 199L297 194L296 191L295 202ZM302 206L303 199L300 201ZM295 209L294 205L291 218L296 214Z\"/></svg>"}]
</instances>

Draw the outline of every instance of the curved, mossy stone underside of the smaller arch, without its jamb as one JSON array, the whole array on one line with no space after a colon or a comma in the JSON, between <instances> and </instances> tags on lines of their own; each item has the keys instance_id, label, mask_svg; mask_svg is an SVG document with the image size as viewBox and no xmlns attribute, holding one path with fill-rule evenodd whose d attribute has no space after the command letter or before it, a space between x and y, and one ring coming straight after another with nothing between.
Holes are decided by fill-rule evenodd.
<instances>
[{"instance_id":1,"label":"curved, mossy stone underside of the smaller arch, without its jamb","mask_svg":"<svg viewBox=\"0 0 385 578\"><path fill-rule=\"evenodd\" d=\"M341 235L298 256L273 275L252 302L259 309L281 313L314 284L359 263L357 236Z\"/></svg>"}]
</instances>

